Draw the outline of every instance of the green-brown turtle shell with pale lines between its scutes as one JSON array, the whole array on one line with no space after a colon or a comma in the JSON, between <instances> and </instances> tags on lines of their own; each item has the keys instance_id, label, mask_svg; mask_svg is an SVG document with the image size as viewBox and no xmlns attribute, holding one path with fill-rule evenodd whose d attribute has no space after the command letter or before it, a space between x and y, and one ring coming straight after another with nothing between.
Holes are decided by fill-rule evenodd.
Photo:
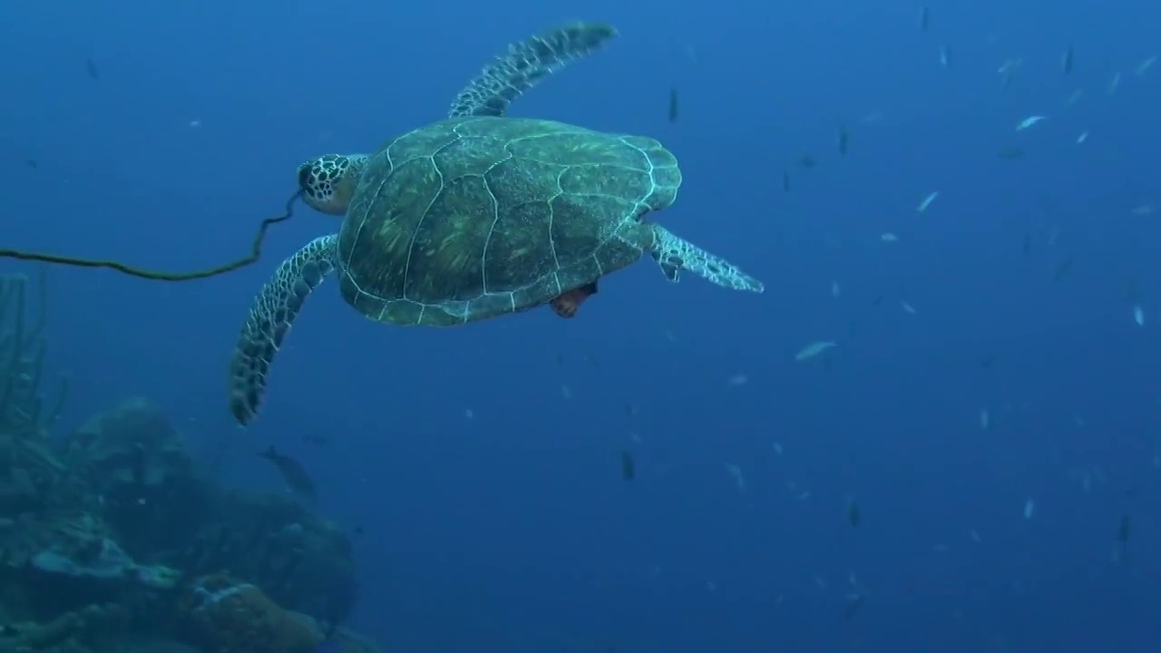
<instances>
[{"instance_id":1,"label":"green-brown turtle shell with pale lines between its scutes","mask_svg":"<svg viewBox=\"0 0 1161 653\"><path fill-rule=\"evenodd\" d=\"M340 292L372 318L456 324L540 306L636 261L682 175L657 141L564 123L444 121L368 162Z\"/></svg>"}]
</instances>

